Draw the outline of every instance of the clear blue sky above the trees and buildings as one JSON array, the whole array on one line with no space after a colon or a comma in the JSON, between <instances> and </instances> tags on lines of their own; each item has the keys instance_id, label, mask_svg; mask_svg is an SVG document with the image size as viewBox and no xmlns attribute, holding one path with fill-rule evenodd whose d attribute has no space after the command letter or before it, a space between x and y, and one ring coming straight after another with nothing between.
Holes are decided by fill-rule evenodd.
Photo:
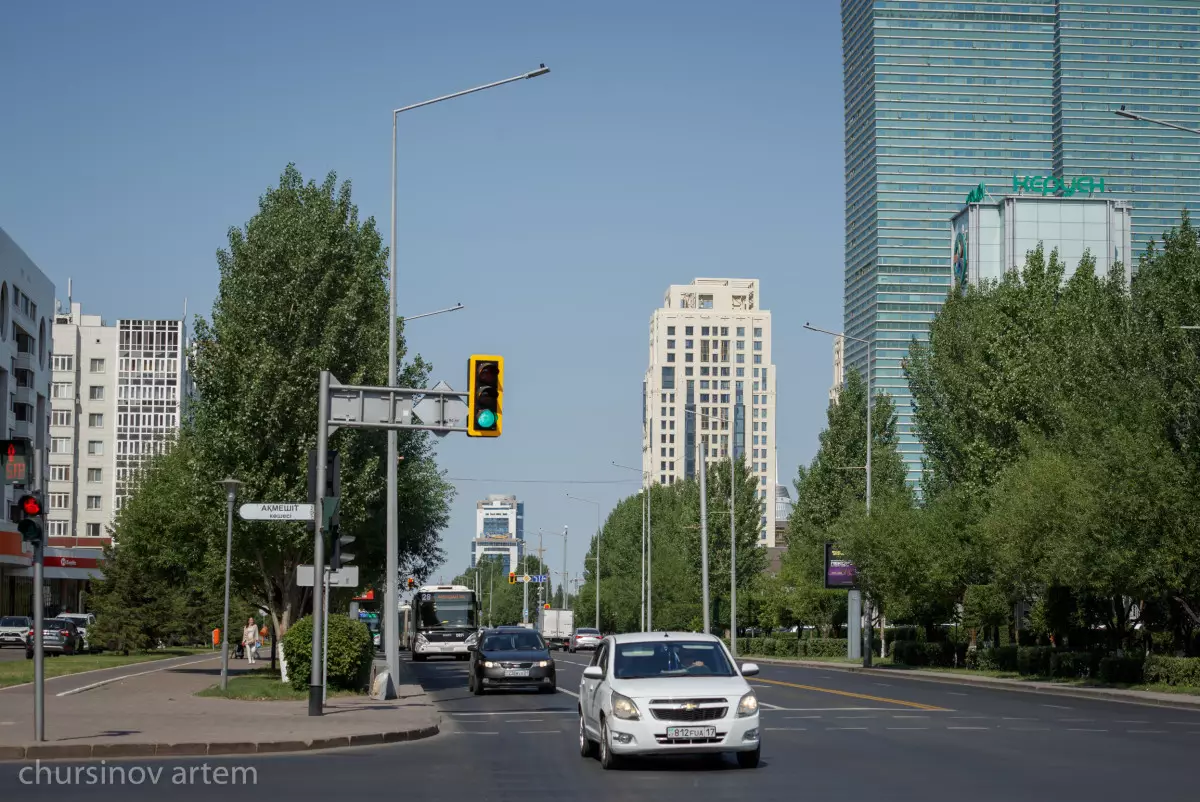
<instances>
[{"instance_id":1,"label":"clear blue sky above the trees and buildings","mask_svg":"<svg viewBox=\"0 0 1200 802\"><path fill-rule=\"evenodd\" d=\"M84 310L206 315L214 253L288 162L354 182L386 237L401 116L400 311L434 378L504 354L504 436L450 436L458 497L526 502L582 568L594 508L634 492L647 325L670 283L758 277L774 313L780 471L811 459L842 309L838 4L16 4L0 48L0 226ZM578 435L569 432L577 431ZM596 484L563 484L563 480Z\"/></svg>"}]
</instances>

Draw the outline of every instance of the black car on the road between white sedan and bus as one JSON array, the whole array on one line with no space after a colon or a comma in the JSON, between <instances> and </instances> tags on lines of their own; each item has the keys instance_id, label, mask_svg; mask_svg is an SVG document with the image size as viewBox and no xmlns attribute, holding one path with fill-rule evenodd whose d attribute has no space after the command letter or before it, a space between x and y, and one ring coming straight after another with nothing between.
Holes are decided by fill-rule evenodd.
<instances>
[{"instance_id":1,"label":"black car on the road between white sedan and bus","mask_svg":"<svg viewBox=\"0 0 1200 802\"><path fill-rule=\"evenodd\" d=\"M487 690L524 688L552 694L558 689L554 658L535 630L524 627L485 629L468 650L467 687L476 696Z\"/></svg>"}]
</instances>

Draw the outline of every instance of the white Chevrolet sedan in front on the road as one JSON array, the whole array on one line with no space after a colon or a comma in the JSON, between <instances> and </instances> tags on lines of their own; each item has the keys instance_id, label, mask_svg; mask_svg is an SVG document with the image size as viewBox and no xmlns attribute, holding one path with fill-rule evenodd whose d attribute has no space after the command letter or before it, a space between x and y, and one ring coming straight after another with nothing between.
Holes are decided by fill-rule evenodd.
<instances>
[{"instance_id":1,"label":"white Chevrolet sedan in front on the road","mask_svg":"<svg viewBox=\"0 0 1200 802\"><path fill-rule=\"evenodd\" d=\"M626 755L733 752L757 768L758 699L725 644L696 633L632 633L600 641L580 682L580 754L600 765Z\"/></svg>"}]
</instances>

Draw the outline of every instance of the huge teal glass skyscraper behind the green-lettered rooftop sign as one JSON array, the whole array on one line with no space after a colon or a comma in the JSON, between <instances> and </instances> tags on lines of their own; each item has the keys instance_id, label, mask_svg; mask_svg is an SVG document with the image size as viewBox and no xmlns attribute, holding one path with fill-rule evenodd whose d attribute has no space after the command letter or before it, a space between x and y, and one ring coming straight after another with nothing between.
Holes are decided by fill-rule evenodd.
<instances>
[{"instance_id":1,"label":"huge teal glass skyscraper behind the green-lettered rooftop sign","mask_svg":"<svg viewBox=\"0 0 1200 802\"><path fill-rule=\"evenodd\" d=\"M1200 204L1200 2L842 0L847 367L895 401L901 456L922 447L904 376L952 282L950 219L983 184L1104 178L1133 202L1140 253Z\"/></svg>"}]
</instances>

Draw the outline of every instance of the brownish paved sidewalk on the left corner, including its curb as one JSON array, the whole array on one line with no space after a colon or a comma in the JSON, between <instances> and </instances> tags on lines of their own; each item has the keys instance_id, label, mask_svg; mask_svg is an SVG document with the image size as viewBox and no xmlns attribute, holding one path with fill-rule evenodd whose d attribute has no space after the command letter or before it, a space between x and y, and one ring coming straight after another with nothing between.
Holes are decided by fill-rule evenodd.
<instances>
[{"instance_id":1,"label":"brownish paved sidewalk on the left corner, including its curb","mask_svg":"<svg viewBox=\"0 0 1200 802\"><path fill-rule=\"evenodd\" d=\"M270 665L270 658L254 668ZM88 688L96 677L46 687L46 742L34 742L34 694L0 692L0 760L241 755L414 741L436 735L440 717L401 663L397 699L334 698L310 717L306 701L196 696L221 681L221 660L152 670ZM230 676L250 666L230 662Z\"/></svg>"}]
</instances>

